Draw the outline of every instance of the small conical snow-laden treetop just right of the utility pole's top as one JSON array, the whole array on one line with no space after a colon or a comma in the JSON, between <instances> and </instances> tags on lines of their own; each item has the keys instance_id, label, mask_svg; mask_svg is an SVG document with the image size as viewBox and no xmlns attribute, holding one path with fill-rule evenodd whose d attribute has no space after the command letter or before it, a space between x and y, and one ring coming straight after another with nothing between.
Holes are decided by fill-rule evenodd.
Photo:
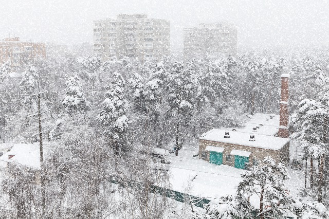
<instances>
[{"instance_id":1,"label":"small conical snow-laden treetop just right of the utility pole's top","mask_svg":"<svg viewBox=\"0 0 329 219\"><path fill-rule=\"evenodd\" d=\"M79 82L79 78L76 75L66 81L66 94L62 102L64 111L66 113L72 113L75 111L84 111L87 109L87 103L84 93L82 92L82 86Z\"/></svg>"}]
</instances>

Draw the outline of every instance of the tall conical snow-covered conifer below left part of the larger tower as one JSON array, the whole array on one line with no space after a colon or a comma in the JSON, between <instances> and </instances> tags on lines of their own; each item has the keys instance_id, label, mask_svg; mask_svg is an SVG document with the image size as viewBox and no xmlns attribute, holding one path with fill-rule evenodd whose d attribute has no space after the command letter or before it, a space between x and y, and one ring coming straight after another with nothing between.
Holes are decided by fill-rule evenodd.
<instances>
[{"instance_id":1,"label":"tall conical snow-covered conifer below left part of the larger tower","mask_svg":"<svg viewBox=\"0 0 329 219\"><path fill-rule=\"evenodd\" d=\"M125 144L125 134L129 123L126 116L128 106L124 86L125 81L122 76L115 72L106 91L103 110L98 116L98 120L103 125L103 134L107 135L111 143L115 144L116 155L120 154L120 150Z\"/></svg>"}]
</instances>

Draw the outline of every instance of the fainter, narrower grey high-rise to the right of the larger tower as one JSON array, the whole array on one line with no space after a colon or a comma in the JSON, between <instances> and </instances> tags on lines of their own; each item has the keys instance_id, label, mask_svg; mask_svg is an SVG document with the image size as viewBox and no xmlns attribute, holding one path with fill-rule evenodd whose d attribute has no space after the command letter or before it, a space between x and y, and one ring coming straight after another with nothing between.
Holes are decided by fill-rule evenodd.
<instances>
[{"instance_id":1,"label":"fainter, narrower grey high-rise to the right of the larger tower","mask_svg":"<svg viewBox=\"0 0 329 219\"><path fill-rule=\"evenodd\" d=\"M225 53L235 56L237 31L234 24L218 22L184 28L184 58Z\"/></svg>"}]
</instances>

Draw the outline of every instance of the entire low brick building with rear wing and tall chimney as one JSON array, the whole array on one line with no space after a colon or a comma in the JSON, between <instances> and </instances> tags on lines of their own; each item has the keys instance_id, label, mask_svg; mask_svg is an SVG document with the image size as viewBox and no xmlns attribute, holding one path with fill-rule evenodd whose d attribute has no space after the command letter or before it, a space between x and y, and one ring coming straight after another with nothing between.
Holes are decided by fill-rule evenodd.
<instances>
[{"instance_id":1,"label":"entire low brick building with rear wing and tall chimney","mask_svg":"<svg viewBox=\"0 0 329 219\"><path fill-rule=\"evenodd\" d=\"M216 165L248 169L270 156L289 163L288 84L289 75L281 76L280 116L255 114L241 129L212 129L199 138L199 158Z\"/></svg>"}]
</instances>

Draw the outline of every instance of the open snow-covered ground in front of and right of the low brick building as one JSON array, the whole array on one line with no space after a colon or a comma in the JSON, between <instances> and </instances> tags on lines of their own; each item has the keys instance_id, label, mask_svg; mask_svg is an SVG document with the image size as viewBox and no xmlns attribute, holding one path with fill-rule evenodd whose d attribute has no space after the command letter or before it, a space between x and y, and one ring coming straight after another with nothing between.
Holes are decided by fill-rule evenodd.
<instances>
[{"instance_id":1,"label":"open snow-covered ground in front of and right of the low brick building","mask_svg":"<svg viewBox=\"0 0 329 219\"><path fill-rule=\"evenodd\" d=\"M198 197L209 199L234 194L241 179L241 174L246 170L236 169L227 165L214 165L204 160L193 157L196 150L181 149L178 157L168 154L172 167L172 189ZM286 186L292 195L299 196L299 191L304 186L303 170L287 168L290 179Z\"/></svg>"}]
</instances>

